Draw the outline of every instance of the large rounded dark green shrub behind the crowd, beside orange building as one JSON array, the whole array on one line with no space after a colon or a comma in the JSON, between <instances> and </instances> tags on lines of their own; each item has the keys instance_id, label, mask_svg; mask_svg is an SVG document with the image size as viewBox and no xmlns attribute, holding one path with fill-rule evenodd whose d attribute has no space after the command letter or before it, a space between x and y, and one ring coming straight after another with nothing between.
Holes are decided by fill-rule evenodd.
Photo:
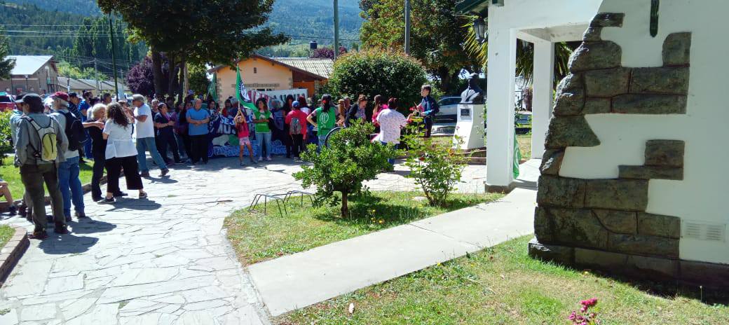
<instances>
[{"instance_id":1,"label":"large rounded dark green shrub behind the crowd, beside orange building","mask_svg":"<svg viewBox=\"0 0 729 325\"><path fill-rule=\"evenodd\" d=\"M370 50L351 52L334 63L327 82L332 95L399 98L403 106L420 102L420 87L426 82L421 64L402 53Z\"/></svg>"}]
</instances>

